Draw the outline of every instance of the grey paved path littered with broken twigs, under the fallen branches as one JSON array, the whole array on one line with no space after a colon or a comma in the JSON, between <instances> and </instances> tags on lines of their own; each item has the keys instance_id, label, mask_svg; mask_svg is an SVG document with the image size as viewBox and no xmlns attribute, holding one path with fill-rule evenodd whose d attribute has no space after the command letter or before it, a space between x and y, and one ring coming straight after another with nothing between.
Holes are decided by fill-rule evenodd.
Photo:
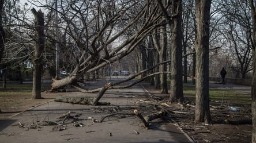
<instances>
[{"instance_id":1,"label":"grey paved path littered with broken twigs, under the fallen branches","mask_svg":"<svg viewBox=\"0 0 256 143\"><path fill-rule=\"evenodd\" d=\"M69 92L66 96L95 96ZM150 114L146 107L135 104L147 99L148 94L140 85L123 90L110 90L100 101L110 102L110 106L72 105L63 102L48 102L10 119L0 120L0 142L191 142L174 125L161 119L153 120L149 129L134 115L134 109L142 114ZM58 121L59 115L73 111L76 121L84 126L75 127L72 119L65 120L66 126L43 125ZM125 115L107 115L125 113ZM62 123L61 119L58 123ZM19 127L23 125L25 127ZM34 128L34 129L32 129ZM62 131L60 131L62 130Z\"/></svg>"}]
</instances>

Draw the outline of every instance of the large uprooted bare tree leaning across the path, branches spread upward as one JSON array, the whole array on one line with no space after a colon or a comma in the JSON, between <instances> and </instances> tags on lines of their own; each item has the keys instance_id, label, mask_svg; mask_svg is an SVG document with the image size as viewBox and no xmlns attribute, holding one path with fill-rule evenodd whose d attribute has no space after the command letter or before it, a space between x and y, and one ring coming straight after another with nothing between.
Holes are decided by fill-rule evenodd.
<instances>
[{"instance_id":1,"label":"large uprooted bare tree leaning across the path, branches spread upward","mask_svg":"<svg viewBox=\"0 0 256 143\"><path fill-rule=\"evenodd\" d=\"M71 55L73 56L72 62L68 61L75 65L75 68L72 67L74 69L70 69L70 76L60 80L53 79L51 90L58 90L67 85L77 86L78 79L82 74L94 72L129 55L153 29L165 22L161 18L162 14L154 1L140 2L140 5L135 1L129 2L129 5L127 3L115 3L114 5L111 2L106 2L104 3L106 7L103 6L103 3L97 2L92 6L91 3L87 4L86 2L71 2L62 12L65 13L65 15L62 15L63 23L66 22L67 24L64 25L68 27L63 29L68 30L66 33L72 38L71 41L75 42L71 46L76 45L78 51L75 55ZM85 6L88 6L87 8L91 11L95 11L94 17L84 16L87 13L84 10L88 10L82 8ZM99 10L101 6L102 9ZM148 10L149 8L152 10ZM108 13L108 11L111 12ZM81 20L81 22L77 22L79 25L76 23L70 24L70 21L76 18ZM140 21L139 25L138 21ZM96 30L91 29L91 27L95 27L94 24L97 25ZM85 37L81 37L81 35ZM124 40L119 40L119 45L112 44L119 37ZM110 45L111 48L108 47Z\"/></svg>"}]
</instances>

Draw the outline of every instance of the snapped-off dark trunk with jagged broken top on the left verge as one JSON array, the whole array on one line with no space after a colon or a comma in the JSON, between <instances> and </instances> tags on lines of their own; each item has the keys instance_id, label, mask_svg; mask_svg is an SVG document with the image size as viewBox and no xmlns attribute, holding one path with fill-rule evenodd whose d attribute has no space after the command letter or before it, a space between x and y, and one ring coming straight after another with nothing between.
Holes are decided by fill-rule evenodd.
<instances>
[{"instance_id":1,"label":"snapped-off dark trunk with jagged broken top on the left verge","mask_svg":"<svg viewBox=\"0 0 256 143\"><path fill-rule=\"evenodd\" d=\"M31 10L36 21L36 46L33 59L33 89L32 99L41 98L41 79L42 79L42 60L44 50L44 14L41 10L36 11L34 8Z\"/></svg>"}]
</instances>

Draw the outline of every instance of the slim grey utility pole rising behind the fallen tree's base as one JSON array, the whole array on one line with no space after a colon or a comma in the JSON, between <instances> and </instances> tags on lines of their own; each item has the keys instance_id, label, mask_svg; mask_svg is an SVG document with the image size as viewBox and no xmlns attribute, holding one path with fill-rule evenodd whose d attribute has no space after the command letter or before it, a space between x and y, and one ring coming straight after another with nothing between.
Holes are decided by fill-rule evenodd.
<instances>
[{"instance_id":1,"label":"slim grey utility pole rising behind the fallen tree's base","mask_svg":"<svg viewBox=\"0 0 256 143\"><path fill-rule=\"evenodd\" d=\"M57 41L55 42L55 64L56 64L56 76L55 79L59 78L59 34L58 34L58 5L57 0L55 0L55 33Z\"/></svg>"}]
</instances>

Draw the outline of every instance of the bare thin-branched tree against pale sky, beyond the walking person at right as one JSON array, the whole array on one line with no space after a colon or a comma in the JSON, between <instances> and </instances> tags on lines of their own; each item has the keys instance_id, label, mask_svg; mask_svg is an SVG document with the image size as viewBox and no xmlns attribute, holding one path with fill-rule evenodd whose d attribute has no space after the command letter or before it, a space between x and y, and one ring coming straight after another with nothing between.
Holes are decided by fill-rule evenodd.
<instances>
[{"instance_id":1,"label":"bare thin-branched tree against pale sky, beyond the walking person at right","mask_svg":"<svg viewBox=\"0 0 256 143\"><path fill-rule=\"evenodd\" d=\"M227 40L225 51L230 51L234 63L229 65L235 71L236 78L246 78L252 70L251 17L249 2L222 1L221 15L223 39ZM220 67L221 68L221 67Z\"/></svg>"}]
</instances>

